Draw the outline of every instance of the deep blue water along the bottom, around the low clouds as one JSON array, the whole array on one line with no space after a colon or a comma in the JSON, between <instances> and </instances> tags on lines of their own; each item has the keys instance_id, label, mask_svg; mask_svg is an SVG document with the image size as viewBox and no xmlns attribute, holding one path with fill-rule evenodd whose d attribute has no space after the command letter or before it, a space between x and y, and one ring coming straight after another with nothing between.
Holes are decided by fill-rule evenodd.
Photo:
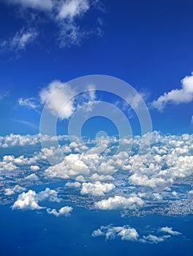
<instances>
[{"instance_id":1,"label":"deep blue water along the bottom, around the low clouds","mask_svg":"<svg viewBox=\"0 0 193 256\"><path fill-rule=\"evenodd\" d=\"M65 205L63 203L63 205ZM0 206L0 254L17 255L175 255L192 256L193 216L121 218L118 211L89 211L75 207L71 217L54 217L42 211L12 211L10 206ZM91 233L101 225L129 224L138 233L147 235L148 228L169 226L183 236L159 244L141 244L132 241L108 240L92 237ZM150 227L147 227L150 225Z\"/></svg>"}]
</instances>

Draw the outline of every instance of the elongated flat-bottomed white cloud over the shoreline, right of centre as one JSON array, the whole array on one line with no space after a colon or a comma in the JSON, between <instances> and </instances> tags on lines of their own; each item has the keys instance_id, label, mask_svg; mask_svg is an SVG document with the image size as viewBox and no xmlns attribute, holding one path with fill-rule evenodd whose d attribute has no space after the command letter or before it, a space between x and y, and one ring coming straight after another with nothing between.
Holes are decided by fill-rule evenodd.
<instances>
[{"instance_id":1,"label":"elongated flat-bottomed white cloud over the shoreline, right of centre","mask_svg":"<svg viewBox=\"0 0 193 256\"><path fill-rule=\"evenodd\" d=\"M115 197L109 197L108 199L96 202L94 206L100 210L129 209L136 211L144 206L144 201L137 196L127 198L116 195Z\"/></svg>"}]
</instances>

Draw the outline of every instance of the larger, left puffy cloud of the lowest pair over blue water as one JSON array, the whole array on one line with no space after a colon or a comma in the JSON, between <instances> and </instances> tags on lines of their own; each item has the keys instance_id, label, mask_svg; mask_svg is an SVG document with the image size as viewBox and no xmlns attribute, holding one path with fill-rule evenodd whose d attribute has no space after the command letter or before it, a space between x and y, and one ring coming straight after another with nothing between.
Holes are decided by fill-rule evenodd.
<instances>
[{"instance_id":1,"label":"larger, left puffy cloud of the lowest pair over blue water","mask_svg":"<svg viewBox=\"0 0 193 256\"><path fill-rule=\"evenodd\" d=\"M113 225L102 226L98 230L94 230L92 236L105 236L108 239L121 238L126 241L137 241L139 234L135 228L124 225L123 227L113 227Z\"/></svg>"}]
</instances>

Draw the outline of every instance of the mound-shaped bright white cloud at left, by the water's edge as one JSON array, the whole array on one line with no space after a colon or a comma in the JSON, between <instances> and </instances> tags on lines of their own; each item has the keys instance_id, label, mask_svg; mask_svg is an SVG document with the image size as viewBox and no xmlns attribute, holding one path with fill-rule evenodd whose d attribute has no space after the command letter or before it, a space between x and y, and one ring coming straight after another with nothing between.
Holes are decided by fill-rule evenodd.
<instances>
[{"instance_id":1,"label":"mound-shaped bright white cloud at left, by the water's edge","mask_svg":"<svg viewBox=\"0 0 193 256\"><path fill-rule=\"evenodd\" d=\"M39 206L38 200L36 198L37 193L33 190L28 192L23 192L18 196L18 200L12 206L12 209L20 210L40 210L43 207Z\"/></svg>"}]
</instances>

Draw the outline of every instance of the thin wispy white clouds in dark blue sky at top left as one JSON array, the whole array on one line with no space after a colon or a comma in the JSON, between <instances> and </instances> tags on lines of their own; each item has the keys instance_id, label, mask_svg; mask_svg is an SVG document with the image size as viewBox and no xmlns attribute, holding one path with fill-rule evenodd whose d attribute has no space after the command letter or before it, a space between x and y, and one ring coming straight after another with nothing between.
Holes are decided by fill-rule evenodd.
<instances>
[{"instance_id":1,"label":"thin wispy white clouds in dark blue sky at top left","mask_svg":"<svg viewBox=\"0 0 193 256\"><path fill-rule=\"evenodd\" d=\"M96 20L94 28L82 27L80 19L85 18L90 10L99 6L99 1L90 0L8 0L7 4L18 6L19 10L25 10L23 18L28 24L29 29L20 29L12 38L4 39L0 42L1 49L13 50L16 53L26 49L26 45L37 39L38 26L40 20L43 23L51 21L57 27L56 43L60 48L70 47L71 45L80 45L84 37L91 34L102 35L102 23ZM42 13L44 15L42 15ZM40 19L30 19L33 14ZM78 18L78 20L77 20ZM37 21L39 20L39 21ZM37 31L31 28L37 28ZM42 30L43 31L43 30ZM39 34L42 34L39 33Z\"/></svg>"}]
</instances>

